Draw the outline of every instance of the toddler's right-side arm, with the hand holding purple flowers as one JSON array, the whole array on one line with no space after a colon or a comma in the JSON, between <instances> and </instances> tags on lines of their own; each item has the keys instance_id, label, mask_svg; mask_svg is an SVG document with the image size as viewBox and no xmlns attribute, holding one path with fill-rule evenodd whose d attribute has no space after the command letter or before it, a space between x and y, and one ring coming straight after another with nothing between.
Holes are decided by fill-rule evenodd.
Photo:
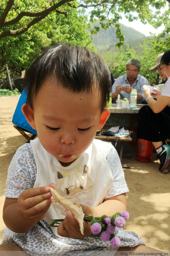
<instances>
[{"instance_id":1,"label":"toddler's right-side arm, with the hand holding purple flowers","mask_svg":"<svg viewBox=\"0 0 170 256\"><path fill-rule=\"evenodd\" d=\"M126 210L127 207L125 193L107 198L102 204L96 207L79 204L78 202L75 202L74 204L78 204L82 207L85 216L94 215L95 217L100 217L104 214L107 216L112 216L116 212ZM73 214L70 211L67 211L64 222L61 223L57 228L57 233L63 237L83 239L91 234L90 222L84 221L83 225L84 235L81 234L79 223L74 219Z\"/></svg>"}]
</instances>

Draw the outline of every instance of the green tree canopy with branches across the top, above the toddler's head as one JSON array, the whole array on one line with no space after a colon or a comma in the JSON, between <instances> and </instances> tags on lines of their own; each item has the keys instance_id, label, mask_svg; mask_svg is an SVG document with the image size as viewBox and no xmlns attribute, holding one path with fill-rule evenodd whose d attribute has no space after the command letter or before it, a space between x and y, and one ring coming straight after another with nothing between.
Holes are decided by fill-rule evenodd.
<instances>
[{"instance_id":1,"label":"green tree canopy with branches across the top, above the toddler's head","mask_svg":"<svg viewBox=\"0 0 170 256\"><path fill-rule=\"evenodd\" d=\"M78 11L89 7L90 22L94 25L91 34L99 32L96 25L96 20L99 20L104 30L109 26L115 29L119 47L124 43L124 34L118 23L121 22L121 13L129 21L139 18L143 24L149 23L155 28L164 24L165 31L161 35L164 36L170 29L170 8L163 15L160 8L166 4L166 0L1 0L0 70L5 62L13 67L13 72L21 70L25 56L49 41L91 45L86 31L87 17Z\"/></svg>"}]
</instances>

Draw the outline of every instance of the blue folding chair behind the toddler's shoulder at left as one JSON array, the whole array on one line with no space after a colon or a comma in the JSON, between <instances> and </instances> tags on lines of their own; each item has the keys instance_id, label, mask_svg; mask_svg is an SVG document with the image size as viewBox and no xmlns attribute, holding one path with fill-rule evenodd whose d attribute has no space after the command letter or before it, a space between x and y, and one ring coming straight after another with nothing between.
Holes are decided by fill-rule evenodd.
<instances>
[{"instance_id":1,"label":"blue folding chair behind the toddler's shoulder at left","mask_svg":"<svg viewBox=\"0 0 170 256\"><path fill-rule=\"evenodd\" d=\"M27 142L30 142L37 136L37 131L33 129L31 125L29 125L21 111L21 107L24 103L26 103L26 99L27 95L25 90L23 89L12 118L12 123L14 124L14 128L17 129L23 135L23 137L28 140ZM30 137L25 132L32 133L33 135Z\"/></svg>"}]
</instances>

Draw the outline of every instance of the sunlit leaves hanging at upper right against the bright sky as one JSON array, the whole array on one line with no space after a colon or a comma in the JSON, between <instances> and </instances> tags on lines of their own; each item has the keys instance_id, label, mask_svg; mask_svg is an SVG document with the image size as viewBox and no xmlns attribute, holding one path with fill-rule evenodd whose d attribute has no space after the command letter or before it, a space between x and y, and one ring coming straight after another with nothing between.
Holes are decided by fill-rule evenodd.
<instances>
[{"instance_id":1,"label":"sunlit leaves hanging at upper right against the bright sky","mask_svg":"<svg viewBox=\"0 0 170 256\"><path fill-rule=\"evenodd\" d=\"M91 2L91 1L86 1ZM120 29L121 15L124 13L125 17L132 22L138 18L143 24L151 24L155 28L160 27L162 24L166 25L167 20L169 22L169 13L170 9L164 14L161 14L160 8L165 7L167 4L166 0L153 0L153 1L137 1L137 0L113 0L113 1L93 1L100 2L100 6L94 8L91 11L90 22L96 22L97 18L100 21L100 25L103 29L108 29L109 26L116 29L116 38L119 39L117 46L121 46L124 43L124 34ZM156 11L153 12L152 8L155 8ZM104 11L104 12L103 12ZM107 13L107 15L105 15ZM97 17L97 18L96 18ZM167 27L167 25L166 25ZM91 33L97 34L100 27L97 25L91 30Z\"/></svg>"}]
</instances>

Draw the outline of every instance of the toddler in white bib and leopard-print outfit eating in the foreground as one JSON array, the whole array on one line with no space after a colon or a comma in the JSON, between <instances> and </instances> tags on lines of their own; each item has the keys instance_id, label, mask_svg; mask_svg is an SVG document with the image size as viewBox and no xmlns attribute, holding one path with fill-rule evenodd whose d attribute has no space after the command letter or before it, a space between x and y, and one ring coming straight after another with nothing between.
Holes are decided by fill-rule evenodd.
<instances>
[{"instance_id":1,"label":"toddler in white bib and leopard-print outfit eating in the foreground","mask_svg":"<svg viewBox=\"0 0 170 256\"><path fill-rule=\"evenodd\" d=\"M81 204L87 216L126 210L129 190L119 156L112 144L94 139L110 114L111 74L103 59L85 47L57 44L36 57L25 81L22 112L38 138L18 148L10 164L0 250L42 256L150 251L136 233L121 228L120 248L92 234L89 222L81 234L70 211L51 205L50 187ZM64 222L49 227L58 218Z\"/></svg>"}]
</instances>

